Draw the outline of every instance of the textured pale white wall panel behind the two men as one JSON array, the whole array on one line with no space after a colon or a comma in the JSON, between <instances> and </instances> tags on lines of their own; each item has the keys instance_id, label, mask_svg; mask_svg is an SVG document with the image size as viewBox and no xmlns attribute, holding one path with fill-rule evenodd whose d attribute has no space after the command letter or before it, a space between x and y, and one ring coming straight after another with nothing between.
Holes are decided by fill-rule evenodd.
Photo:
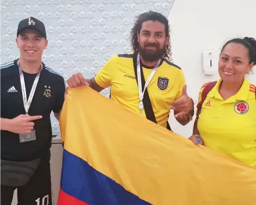
<instances>
[{"instance_id":1,"label":"textured pale white wall panel behind the two men","mask_svg":"<svg viewBox=\"0 0 256 205\"><path fill-rule=\"evenodd\" d=\"M65 79L75 72L96 74L114 54L130 52L137 14L155 10L168 16L174 0L4 0L1 1L1 63L18 57L18 22L33 16L46 25L49 46L43 61ZM103 91L108 96L108 89ZM59 123L52 116L55 133Z\"/></svg>"}]
</instances>

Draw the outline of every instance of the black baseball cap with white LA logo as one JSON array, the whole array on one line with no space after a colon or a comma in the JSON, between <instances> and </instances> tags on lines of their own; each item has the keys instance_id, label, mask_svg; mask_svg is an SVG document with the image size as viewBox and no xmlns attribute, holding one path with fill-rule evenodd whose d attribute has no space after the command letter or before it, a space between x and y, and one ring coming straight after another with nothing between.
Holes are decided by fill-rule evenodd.
<instances>
[{"instance_id":1,"label":"black baseball cap with white LA logo","mask_svg":"<svg viewBox=\"0 0 256 205\"><path fill-rule=\"evenodd\" d=\"M18 23L17 36L25 28L36 29L46 39L46 27L44 27L43 22L41 22L40 20L38 20L38 19L36 19L32 16L29 17L29 18L25 18L25 19L21 20L20 23Z\"/></svg>"}]
</instances>

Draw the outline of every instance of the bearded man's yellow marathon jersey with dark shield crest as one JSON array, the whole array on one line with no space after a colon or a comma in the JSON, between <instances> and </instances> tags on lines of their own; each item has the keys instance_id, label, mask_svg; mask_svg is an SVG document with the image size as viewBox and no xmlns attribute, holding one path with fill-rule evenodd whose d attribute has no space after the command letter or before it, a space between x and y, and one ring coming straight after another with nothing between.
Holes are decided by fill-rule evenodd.
<instances>
[{"instance_id":1,"label":"bearded man's yellow marathon jersey with dark shield crest","mask_svg":"<svg viewBox=\"0 0 256 205\"><path fill-rule=\"evenodd\" d=\"M95 76L95 81L103 88L111 86L111 99L139 114L139 92L132 57L133 53L114 55ZM151 71L152 68L143 67L145 81ZM147 87L159 125L167 126L169 106L172 101L181 97L184 84L182 69L164 60ZM144 110L142 114L146 117Z\"/></svg>"}]
</instances>

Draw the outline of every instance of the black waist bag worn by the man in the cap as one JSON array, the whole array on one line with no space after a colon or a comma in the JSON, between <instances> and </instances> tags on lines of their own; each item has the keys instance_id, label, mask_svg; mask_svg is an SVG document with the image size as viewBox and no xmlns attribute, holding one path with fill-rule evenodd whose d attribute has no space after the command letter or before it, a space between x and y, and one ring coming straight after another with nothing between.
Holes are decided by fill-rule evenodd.
<instances>
[{"instance_id":1,"label":"black waist bag worn by the man in the cap","mask_svg":"<svg viewBox=\"0 0 256 205\"><path fill-rule=\"evenodd\" d=\"M21 187L28 183L37 170L41 158L28 162L14 162L1 159L1 185Z\"/></svg>"}]
</instances>

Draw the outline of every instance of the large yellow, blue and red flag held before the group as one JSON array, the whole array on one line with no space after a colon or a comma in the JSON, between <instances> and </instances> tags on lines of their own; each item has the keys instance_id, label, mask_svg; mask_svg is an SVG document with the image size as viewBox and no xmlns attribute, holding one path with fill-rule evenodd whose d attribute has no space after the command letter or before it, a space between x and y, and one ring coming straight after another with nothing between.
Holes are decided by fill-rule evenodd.
<instances>
[{"instance_id":1,"label":"large yellow, blue and red flag held before the group","mask_svg":"<svg viewBox=\"0 0 256 205\"><path fill-rule=\"evenodd\" d=\"M195 146L91 88L71 88L59 205L255 205L256 168Z\"/></svg>"}]
</instances>

